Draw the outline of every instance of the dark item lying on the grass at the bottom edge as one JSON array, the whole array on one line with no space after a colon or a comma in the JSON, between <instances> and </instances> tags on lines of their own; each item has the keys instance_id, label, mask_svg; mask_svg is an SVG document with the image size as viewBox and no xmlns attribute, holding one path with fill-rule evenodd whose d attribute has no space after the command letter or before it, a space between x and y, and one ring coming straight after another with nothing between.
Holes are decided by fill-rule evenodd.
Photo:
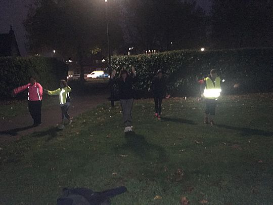
<instances>
[{"instance_id":1,"label":"dark item lying on the grass at the bottom edge","mask_svg":"<svg viewBox=\"0 0 273 205\"><path fill-rule=\"evenodd\" d=\"M58 205L109 205L110 198L126 192L124 186L101 192L94 192L87 188L64 188L62 196L57 199Z\"/></svg>"}]
</instances>

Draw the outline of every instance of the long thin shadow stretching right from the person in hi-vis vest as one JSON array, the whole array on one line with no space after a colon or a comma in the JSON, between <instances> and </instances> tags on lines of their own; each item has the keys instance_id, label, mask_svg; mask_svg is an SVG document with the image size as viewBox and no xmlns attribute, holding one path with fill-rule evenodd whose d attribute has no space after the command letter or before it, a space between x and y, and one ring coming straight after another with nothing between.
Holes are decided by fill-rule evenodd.
<instances>
[{"instance_id":1,"label":"long thin shadow stretching right from the person in hi-vis vest","mask_svg":"<svg viewBox=\"0 0 273 205\"><path fill-rule=\"evenodd\" d=\"M263 130L251 129L251 128L240 128L240 127L234 127L234 126L228 126L228 125L215 125L215 126L218 128L240 131L242 136L260 135L260 136L266 136L266 137L270 137L270 136L273 137L273 132L270 132L270 131L263 131Z\"/></svg>"}]
</instances>

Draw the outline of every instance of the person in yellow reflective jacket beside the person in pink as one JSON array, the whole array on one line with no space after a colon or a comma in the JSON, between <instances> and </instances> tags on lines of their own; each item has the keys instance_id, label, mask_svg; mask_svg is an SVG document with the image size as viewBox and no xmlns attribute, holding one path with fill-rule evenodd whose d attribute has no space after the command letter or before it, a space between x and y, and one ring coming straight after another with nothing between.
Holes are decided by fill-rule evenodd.
<instances>
[{"instance_id":1,"label":"person in yellow reflective jacket beside the person in pink","mask_svg":"<svg viewBox=\"0 0 273 205\"><path fill-rule=\"evenodd\" d=\"M71 92L71 88L67 85L67 81L61 80L60 88L58 88L55 91L45 90L45 92L48 92L49 95L59 95L59 100L60 100L60 105L62 110L62 123L63 123L62 129L64 128L65 119L67 119L69 121L69 124L71 124L71 118L70 118L70 115L68 114L68 108L70 106L69 93Z\"/></svg>"}]
</instances>

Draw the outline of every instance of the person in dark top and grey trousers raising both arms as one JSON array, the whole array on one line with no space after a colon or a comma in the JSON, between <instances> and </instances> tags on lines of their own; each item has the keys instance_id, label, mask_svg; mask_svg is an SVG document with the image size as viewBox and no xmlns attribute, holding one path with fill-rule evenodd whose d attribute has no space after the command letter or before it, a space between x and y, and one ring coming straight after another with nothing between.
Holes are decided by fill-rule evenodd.
<instances>
[{"instance_id":1,"label":"person in dark top and grey trousers raising both arms","mask_svg":"<svg viewBox=\"0 0 273 205\"><path fill-rule=\"evenodd\" d=\"M132 76L126 70L122 70L120 77L114 79L116 70L113 70L111 83L117 83L119 90L119 99L123 112L124 132L132 132L132 106L134 98L133 84L136 81L135 69L132 66Z\"/></svg>"}]
</instances>

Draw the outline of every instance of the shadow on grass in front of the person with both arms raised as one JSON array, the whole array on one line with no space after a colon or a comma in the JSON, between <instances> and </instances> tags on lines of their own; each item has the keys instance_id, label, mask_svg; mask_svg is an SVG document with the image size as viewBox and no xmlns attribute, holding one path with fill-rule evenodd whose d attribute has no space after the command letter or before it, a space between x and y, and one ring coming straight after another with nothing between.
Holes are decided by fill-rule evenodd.
<instances>
[{"instance_id":1,"label":"shadow on grass in front of the person with both arms raised","mask_svg":"<svg viewBox=\"0 0 273 205\"><path fill-rule=\"evenodd\" d=\"M142 158L158 158L161 161L166 160L165 149L159 145L151 144L146 141L145 137L134 132L125 134L126 143L118 149L130 149Z\"/></svg>"}]
</instances>

